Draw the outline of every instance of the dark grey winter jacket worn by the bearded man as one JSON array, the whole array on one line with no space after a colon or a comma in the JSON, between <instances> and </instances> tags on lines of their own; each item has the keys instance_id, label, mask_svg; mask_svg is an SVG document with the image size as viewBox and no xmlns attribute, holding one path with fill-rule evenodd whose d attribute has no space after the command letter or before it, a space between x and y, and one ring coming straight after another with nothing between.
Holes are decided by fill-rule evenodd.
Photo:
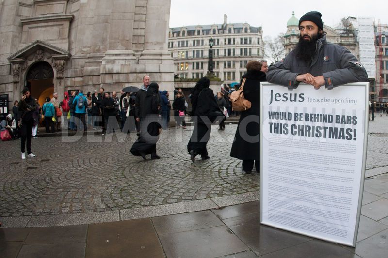
<instances>
[{"instance_id":1,"label":"dark grey winter jacket worn by the bearded man","mask_svg":"<svg viewBox=\"0 0 388 258\"><path fill-rule=\"evenodd\" d=\"M306 73L323 75L327 89L349 82L368 81L367 72L356 57L347 48L327 42L326 35L318 39L310 65L291 51L282 61L270 66L267 81L292 90L299 85L296 76Z\"/></svg>"}]
</instances>

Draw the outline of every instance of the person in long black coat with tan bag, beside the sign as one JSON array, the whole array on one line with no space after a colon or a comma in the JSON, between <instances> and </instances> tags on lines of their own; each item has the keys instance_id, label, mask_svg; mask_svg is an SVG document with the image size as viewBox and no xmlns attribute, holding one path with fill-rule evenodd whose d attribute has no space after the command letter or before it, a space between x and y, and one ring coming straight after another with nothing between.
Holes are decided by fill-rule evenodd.
<instances>
[{"instance_id":1,"label":"person in long black coat with tan bag, beside the sign","mask_svg":"<svg viewBox=\"0 0 388 258\"><path fill-rule=\"evenodd\" d=\"M260 81L266 80L259 61L248 62L246 70L240 84L243 87L244 98L251 102L251 107L241 112L230 156L241 159L242 171L250 174L254 163L256 171L260 172Z\"/></svg>"}]
</instances>

